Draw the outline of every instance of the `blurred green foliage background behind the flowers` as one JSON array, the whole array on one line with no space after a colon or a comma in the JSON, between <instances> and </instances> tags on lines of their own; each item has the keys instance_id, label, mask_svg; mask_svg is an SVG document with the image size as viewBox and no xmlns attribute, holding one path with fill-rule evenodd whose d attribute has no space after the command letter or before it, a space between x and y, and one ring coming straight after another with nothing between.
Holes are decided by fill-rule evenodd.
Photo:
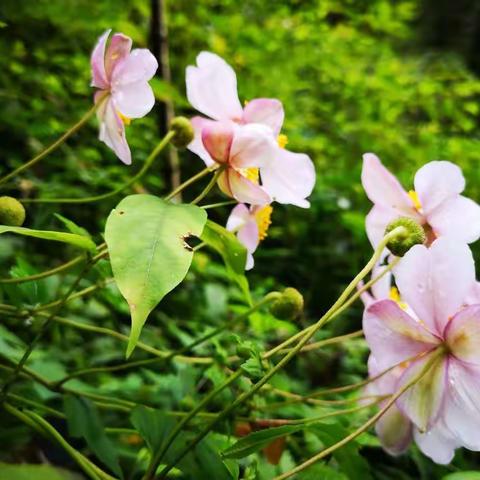
<instances>
[{"instance_id":1,"label":"blurred green foliage background behind the flowers","mask_svg":"<svg viewBox=\"0 0 480 480\"><path fill-rule=\"evenodd\" d=\"M146 0L0 2L0 175L41 151L90 108L89 56L98 36L113 28L131 36L135 46L149 46L151 19ZM177 114L194 114L185 98L185 67L209 50L236 70L242 101L283 102L288 148L307 152L316 165L312 207L275 206L269 236L249 273L254 292L297 287L305 295L307 316L315 318L363 265L370 252L364 231L370 203L360 183L364 152L375 152L407 190L421 165L451 160L464 170L466 194L480 201L480 2L175 0L168 2L167 23L172 84L155 80L159 103L127 131L133 165L122 165L98 142L92 121L12 181L11 194L82 197L125 182L162 134L162 101L173 102ZM202 167L200 159L180 152L183 179ZM170 173L163 155L135 191L168 192ZM216 195L212 202L222 200ZM117 201L32 205L28 226L58 228L53 216L58 212L99 232ZM227 215L228 209L218 210L213 218L224 223ZM19 257L45 262L35 244L1 245L4 271ZM199 262L198 275L215 279L218 272L202 273L206 266ZM191 295L194 286L188 284L165 309L191 314ZM359 325L357 308L334 328L342 333ZM324 370L321 375L329 378ZM473 469L474 456L465 457ZM393 460L381 459L383 478L441 478L416 454L400 460L411 476L395 470L389 477Z\"/></svg>"}]
</instances>

